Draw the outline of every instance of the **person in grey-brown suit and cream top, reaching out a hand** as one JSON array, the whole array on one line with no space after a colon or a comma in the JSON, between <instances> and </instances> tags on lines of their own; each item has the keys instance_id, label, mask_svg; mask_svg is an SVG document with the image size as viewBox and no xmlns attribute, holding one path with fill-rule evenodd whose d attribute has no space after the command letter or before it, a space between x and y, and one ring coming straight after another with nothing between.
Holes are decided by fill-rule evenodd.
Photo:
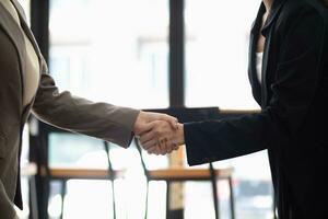
<instances>
[{"instance_id":1,"label":"person in grey-brown suit and cream top, reaching out a hand","mask_svg":"<svg viewBox=\"0 0 328 219\"><path fill-rule=\"evenodd\" d=\"M16 0L0 0L0 219L16 218L13 205L22 208L20 152L23 126L31 112L56 127L89 135L127 148L133 135L162 120L176 127L164 114L73 96L59 92L24 11Z\"/></svg>"}]
</instances>

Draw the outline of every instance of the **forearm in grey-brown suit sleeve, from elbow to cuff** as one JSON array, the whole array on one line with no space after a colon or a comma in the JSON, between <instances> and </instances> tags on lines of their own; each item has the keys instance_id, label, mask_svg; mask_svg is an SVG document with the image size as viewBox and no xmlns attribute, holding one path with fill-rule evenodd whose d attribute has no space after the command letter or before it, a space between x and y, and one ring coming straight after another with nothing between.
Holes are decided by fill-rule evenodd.
<instances>
[{"instance_id":1,"label":"forearm in grey-brown suit sleeve, from elbow to cuff","mask_svg":"<svg viewBox=\"0 0 328 219\"><path fill-rule=\"evenodd\" d=\"M74 102L77 100L68 100ZM55 101L56 102L56 101ZM58 104L58 105L55 105ZM43 122L61 129L128 147L133 136L133 125L139 111L113 106L105 103L80 102L79 106L52 103L46 110L34 108L34 114Z\"/></svg>"}]
</instances>

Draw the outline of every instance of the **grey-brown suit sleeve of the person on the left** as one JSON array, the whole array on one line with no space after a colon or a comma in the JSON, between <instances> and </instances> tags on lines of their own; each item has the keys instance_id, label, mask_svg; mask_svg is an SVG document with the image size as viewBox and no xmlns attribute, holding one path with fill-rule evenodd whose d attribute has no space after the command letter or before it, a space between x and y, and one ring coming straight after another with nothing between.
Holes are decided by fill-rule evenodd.
<instances>
[{"instance_id":1,"label":"grey-brown suit sleeve of the person on the left","mask_svg":"<svg viewBox=\"0 0 328 219\"><path fill-rule=\"evenodd\" d=\"M107 103L94 103L59 92L54 79L42 62L42 79L33 105L40 120L61 129L101 138L127 148L139 111Z\"/></svg>"}]
</instances>

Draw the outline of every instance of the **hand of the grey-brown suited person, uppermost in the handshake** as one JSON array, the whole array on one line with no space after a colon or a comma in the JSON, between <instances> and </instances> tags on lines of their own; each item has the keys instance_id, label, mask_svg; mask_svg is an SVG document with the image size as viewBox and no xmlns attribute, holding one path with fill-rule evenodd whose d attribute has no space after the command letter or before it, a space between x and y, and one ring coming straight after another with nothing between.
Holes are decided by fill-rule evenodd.
<instances>
[{"instance_id":1,"label":"hand of the grey-brown suited person, uppermost in the handshake","mask_svg":"<svg viewBox=\"0 0 328 219\"><path fill-rule=\"evenodd\" d=\"M162 120L169 124L171 128L177 128L177 118L160 113L140 112L134 123L133 132L137 136L141 136L144 132L150 131L153 128L152 122Z\"/></svg>"}]
</instances>

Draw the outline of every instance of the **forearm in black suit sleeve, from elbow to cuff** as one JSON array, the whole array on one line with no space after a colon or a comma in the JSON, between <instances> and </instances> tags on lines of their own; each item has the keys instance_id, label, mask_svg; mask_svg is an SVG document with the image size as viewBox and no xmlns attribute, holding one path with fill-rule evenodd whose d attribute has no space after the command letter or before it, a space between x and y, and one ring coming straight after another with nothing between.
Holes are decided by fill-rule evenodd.
<instances>
[{"instance_id":1,"label":"forearm in black suit sleeve, from elbow to cuff","mask_svg":"<svg viewBox=\"0 0 328 219\"><path fill-rule=\"evenodd\" d=\"M187 123L184 126L190 165L245 155L268 147L273 124L262 114L235 119ZM271 131L271 135L268 132Z\"/></svg>"}]
</instances>

